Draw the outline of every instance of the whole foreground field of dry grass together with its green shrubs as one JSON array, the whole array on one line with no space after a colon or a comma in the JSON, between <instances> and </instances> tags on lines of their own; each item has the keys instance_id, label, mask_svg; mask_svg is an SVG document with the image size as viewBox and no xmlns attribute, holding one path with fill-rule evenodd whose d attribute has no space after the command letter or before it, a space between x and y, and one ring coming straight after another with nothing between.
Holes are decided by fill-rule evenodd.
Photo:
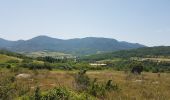
<instances>
[{"instance_id":1,"label":"whole foreground field of dry grass together with its green shrubs","mask_svg":"<svg viewBox=\"0 0 170 100\"><path fill-rule=\"evenodd\" d=\"M134 75L103 70L87 71L80 76L80 72L77 71L37 70L35 73L33 70L22 68L15 72L1 69L0 73L2 100L167 100L170 98L169 73ZM25 77L26 74L30 77ZM82 77L85 78L82 80ZM81 89L82 85L86 87L85 90Z\"/></svg>"}]
</instances>

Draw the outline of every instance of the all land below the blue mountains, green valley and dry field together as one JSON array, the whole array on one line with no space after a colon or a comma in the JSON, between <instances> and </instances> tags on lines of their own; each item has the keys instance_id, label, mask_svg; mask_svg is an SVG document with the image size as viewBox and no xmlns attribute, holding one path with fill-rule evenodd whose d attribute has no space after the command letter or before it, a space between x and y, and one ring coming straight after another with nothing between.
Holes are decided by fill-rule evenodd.
<instances>
[{"instance_id":1,"label":"all land below the blue mountains, green valley and dry field together","mask_svg":"<svg viewBox=\"0 0 170 100\"><path fill-rule=\"evenodd\" d=\"M127 55L117 57L110 55L111 58L105 56L93 60L78 57L61 59L51 56L30 58L2 50L0 52L0 99L170 98L168 54L152 52L143 56Z\"/></svg>"}]
</instances>

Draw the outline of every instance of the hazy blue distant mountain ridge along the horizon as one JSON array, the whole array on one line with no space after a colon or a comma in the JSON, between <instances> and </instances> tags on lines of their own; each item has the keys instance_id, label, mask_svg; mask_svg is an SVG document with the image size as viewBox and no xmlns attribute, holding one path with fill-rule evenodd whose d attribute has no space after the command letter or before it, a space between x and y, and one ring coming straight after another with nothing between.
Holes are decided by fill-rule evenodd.
<instances>
[{"instance_id":1,"label":"hazy blue distant mountain ridge along the horizon","mask_svg":"<svg viewBox=\"0 0 170 100\"><path fill-rule=\"evenodd\" d=\"M98 52L118 51L145 47L138 43L120 42L110 38L75 38L56 39L48 36L37 36L30 40L8 41L0 39L0 48L16 52L57 51L71 54L95 54Z\"/></svg>"}]
</instances>

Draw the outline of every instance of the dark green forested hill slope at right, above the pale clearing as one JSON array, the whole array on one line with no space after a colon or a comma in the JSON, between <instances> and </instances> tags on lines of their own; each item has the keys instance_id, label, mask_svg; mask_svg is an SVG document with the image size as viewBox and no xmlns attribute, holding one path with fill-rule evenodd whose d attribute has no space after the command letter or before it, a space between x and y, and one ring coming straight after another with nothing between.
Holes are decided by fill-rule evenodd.
<instances>
[{"instance_id":1,"label":"dark green forested hill slope at right, above the pale clearing","mask_svg":"<svg viewBox=\"0 0 170 100\"><path fill-rule=\"evenodd\" d=\"M84 60L103 60L112 58L130 58L130 57L170 57L170 46L144 47L132 50L121 50L110 53L95 54L84 56Z\"/></svg>"}]
</instances>

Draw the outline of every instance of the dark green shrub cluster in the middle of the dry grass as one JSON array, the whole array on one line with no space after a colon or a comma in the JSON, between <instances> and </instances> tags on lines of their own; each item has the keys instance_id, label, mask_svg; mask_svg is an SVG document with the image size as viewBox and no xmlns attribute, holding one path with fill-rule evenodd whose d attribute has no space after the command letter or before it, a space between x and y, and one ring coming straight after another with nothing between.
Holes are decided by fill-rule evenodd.
<instances>
[{"instance_id":1,"label":"dark green shrub cluster in the middle of the dry grass","mask_svg":"<svg viewBox=\"0 0 170 100\"><path fill-rule=\"evenodd\" d=\"M86 70L80 71L75 76L77 89L93 95L95 97L104 98L107 92L120 90L117 84L113 84L112 80L108 80L107 83L99 83L95 78L90 81L90 78L86 75Z\"/></svg>"}]
</instances>

